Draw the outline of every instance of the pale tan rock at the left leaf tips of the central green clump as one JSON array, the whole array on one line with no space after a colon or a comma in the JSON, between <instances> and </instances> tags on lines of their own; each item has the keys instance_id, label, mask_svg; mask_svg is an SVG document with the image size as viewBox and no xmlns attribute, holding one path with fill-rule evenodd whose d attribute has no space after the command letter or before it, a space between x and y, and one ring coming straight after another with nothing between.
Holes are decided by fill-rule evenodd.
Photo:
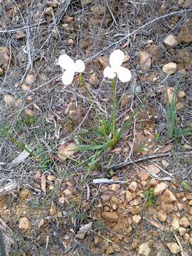
<instances>
[{"instance_id":1,"label":"pale tan rock at the left leaf tips of the central green clump","mask_svg":"<svg viewBox=\"0 0 192 256\"><path fill-rule=\"evenodd\" d=\"M74 142L69 142L68 144L60 145L58 147L58 158L62 161L68 159L68 156L74 156L75 154L75 146L77 146Z\"/></svg>"}]
</instances>

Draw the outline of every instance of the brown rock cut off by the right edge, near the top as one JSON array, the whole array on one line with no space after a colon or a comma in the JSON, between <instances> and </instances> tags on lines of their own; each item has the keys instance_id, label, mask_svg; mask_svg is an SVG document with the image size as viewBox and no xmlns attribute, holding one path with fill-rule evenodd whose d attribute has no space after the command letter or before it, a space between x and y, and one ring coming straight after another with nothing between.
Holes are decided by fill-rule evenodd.
<instances>
[{"instance_id":1,"label":"brown rock cut off by the right edge, near the top","mask_svg":"<svg viewBox=\"0 0 192 256\"><path fill-rule=\"evenodd\" d=\"M188 21L185 22L184 26L180 28L176 38L180 43L192 42L192 19L188 19Z\"/></svg>"}]
</instances>

